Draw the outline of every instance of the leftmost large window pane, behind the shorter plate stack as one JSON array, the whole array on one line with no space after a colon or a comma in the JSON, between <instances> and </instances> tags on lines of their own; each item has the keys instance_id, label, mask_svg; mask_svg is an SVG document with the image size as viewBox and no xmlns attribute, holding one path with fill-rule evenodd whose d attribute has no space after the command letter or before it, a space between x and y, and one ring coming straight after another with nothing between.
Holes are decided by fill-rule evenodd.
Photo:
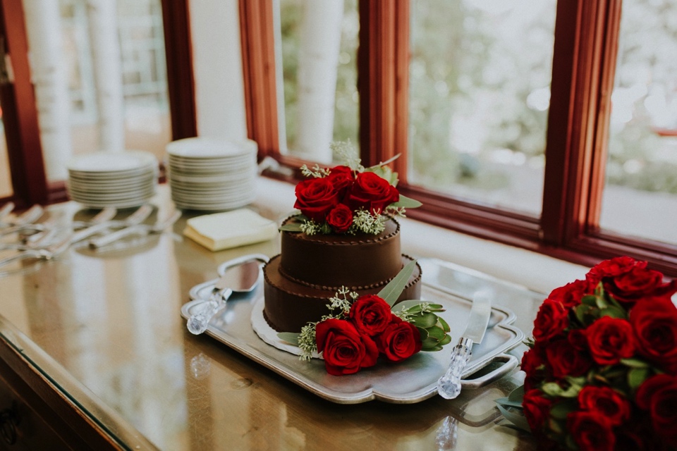
<instances>
[{"instance_id":1,"label":"leftmost large window pane, behind the shorter plate stack","mask_svg":"<svg viewBox=\"0 0 677 451\"><path fill-rule=\"evenodd\" d=\"M24 1L48 180L73 155L171 140L161 0Z\"/></svg>"}]
</instances>

